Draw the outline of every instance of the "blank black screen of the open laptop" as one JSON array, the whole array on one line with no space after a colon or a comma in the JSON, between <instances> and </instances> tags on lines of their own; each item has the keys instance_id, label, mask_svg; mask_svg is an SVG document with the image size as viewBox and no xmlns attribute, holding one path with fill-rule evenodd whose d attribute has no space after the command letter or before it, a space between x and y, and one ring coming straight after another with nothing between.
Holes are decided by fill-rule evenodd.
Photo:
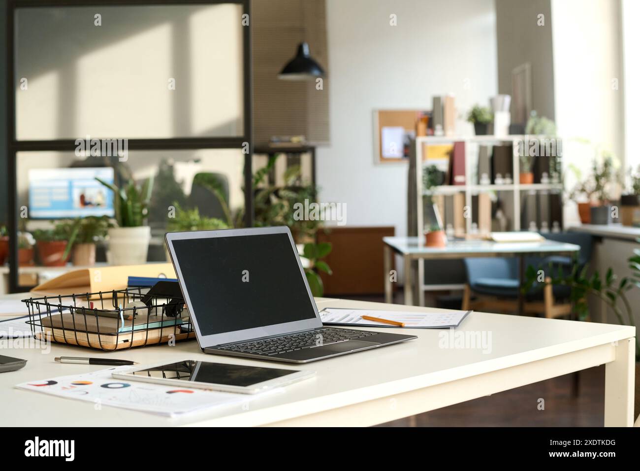
<instances>
[{"instance_id":1,"label":"blank black screen of the open laptop","mask_svg":"<svg viewBox=\"0 0 640 471\"><path fill-rule=\"evenodd\" d=\"M173 240L201 335L316 317L287 234Z\"/></svg>"}]
</instances>

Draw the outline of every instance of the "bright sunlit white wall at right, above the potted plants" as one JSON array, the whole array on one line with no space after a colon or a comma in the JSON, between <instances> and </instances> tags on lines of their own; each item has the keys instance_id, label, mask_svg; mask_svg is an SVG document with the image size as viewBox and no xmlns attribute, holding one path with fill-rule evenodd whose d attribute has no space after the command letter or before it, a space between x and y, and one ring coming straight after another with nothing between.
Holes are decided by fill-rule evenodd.
<instances>
[{"instance_id":1,"label":"bright sunlit white wall at right, above the potted plants","mask_svg":"<svg viewBox=\"0 0 640 471\"><path fill-rule=\"evenodd\" d=\"M624 80L620 0L552 0L556 124L563 138L563 168L588 174L593 145L624 161ZM618 79L618 88L613 82ZM566 188L574 180L565 171ZM565 225L578 223L575 204L564 206Z\"/></svg>"}]
</instances>

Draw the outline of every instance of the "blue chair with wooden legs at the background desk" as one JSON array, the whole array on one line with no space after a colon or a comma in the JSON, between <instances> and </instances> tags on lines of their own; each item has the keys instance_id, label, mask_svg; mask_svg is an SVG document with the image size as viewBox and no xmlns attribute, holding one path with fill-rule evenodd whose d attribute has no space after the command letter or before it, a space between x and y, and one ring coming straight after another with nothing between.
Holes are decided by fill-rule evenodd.
<instances>
[{"instance_id":1,"label":"blue chair with wooden legs at the background desk","mask_svg":"<svg viewBox=\"0 0 640 471\"><path fill-rule=\"evenodd\" d=\"M567 242L580 245L577 263L581 269L591 258L593 240L590 235L581 233L545 234L548 240ZM467 269L467 285L463 296L463 309L482 309L511 311L517 310L518 290L518 259L516 258L465 258ZM573 258L570 256L527 257L527 265L541 267L551 273L545 273L547 280L555 276L562 267L568 273L572 267ZM541 288L533 286L525 295L525 313L543 314L547 318L561 317L572 311L568 302L571 289L568 286L552 286L550 283ZM472 300L472 296L476 299ZM560 301L560 302L558 302ZM564 302L563 302L564 301Z\"/></svg>"}]
</instances>

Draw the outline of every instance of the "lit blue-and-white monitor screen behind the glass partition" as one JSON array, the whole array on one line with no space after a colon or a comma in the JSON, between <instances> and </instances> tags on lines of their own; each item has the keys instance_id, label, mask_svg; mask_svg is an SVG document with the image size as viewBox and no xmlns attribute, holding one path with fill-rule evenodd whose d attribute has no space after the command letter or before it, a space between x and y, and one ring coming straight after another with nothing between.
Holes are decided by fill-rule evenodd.
<instances>
[{"instance_id":1,"label":"lit blue-and-white monitor screen behind the glass partition","mask_svg":"<svg viewBox=\"0 0 640 471\"><path fill-rule=\"evenodd\" d=\"M113 183L113 168L29 170L29 217L113 216L113 192L96 177Z\"/></svg>"}]
</instances>

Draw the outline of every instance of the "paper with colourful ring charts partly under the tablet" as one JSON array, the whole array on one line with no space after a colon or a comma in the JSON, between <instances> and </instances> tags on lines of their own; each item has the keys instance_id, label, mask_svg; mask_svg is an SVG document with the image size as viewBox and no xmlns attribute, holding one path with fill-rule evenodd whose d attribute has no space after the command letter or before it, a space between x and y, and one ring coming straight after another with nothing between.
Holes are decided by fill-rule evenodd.
<instances>
[{"instance_id":1,"label":"paper with colourful ring charts partly under the tablet","mask_svg":"<svg viewBox=\"0 0 640 471\"><path fill-rule=\"evenodd\" d=\"M259 394L226 393L184 388L184 386L124 381L111 376L114 372L129 369L131 367L116 367L91 373L51 377L17 384L15 387L68 399L93 402L102 406L132 409L168 417L177 417L233 404L236 404L238 408L246 408L246 404L253 399L282 391L282 389L276 389Z\"/></svg>"}]
</instances>

